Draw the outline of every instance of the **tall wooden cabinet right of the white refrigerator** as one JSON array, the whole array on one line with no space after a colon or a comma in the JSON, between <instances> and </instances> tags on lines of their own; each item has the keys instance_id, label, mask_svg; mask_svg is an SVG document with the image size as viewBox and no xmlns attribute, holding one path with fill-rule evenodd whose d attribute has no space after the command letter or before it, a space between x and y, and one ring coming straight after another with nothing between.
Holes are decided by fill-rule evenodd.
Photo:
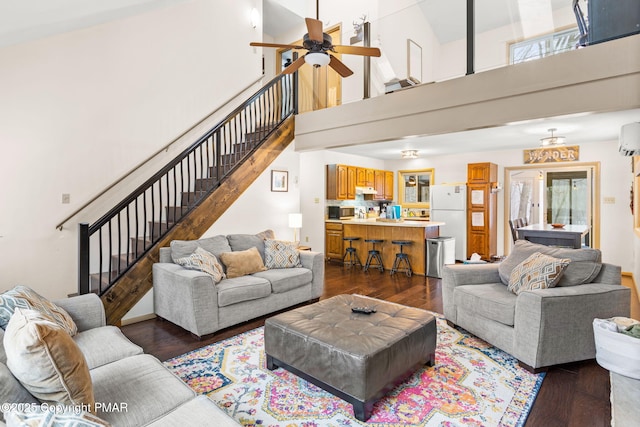
<instances>
[{"instance_id":1,"label":"tall wooden cabinet right of the white refrigerator","mask_svg":"<svg viewBox=\"0 0 640 427\"><path fill-rule=\"evenodd\" d=\"M498 166L493 163L470 163L467 167L467 258L477 253L490 260L496 255L498 209L493 189L497 177Z\"/></svg>"}]
</instances>

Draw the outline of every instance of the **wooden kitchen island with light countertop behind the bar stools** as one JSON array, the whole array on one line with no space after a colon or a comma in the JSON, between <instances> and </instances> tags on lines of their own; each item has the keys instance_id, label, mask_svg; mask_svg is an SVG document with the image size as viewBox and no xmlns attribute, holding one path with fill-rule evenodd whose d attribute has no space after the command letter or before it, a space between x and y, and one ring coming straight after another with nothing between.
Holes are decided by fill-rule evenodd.
<instances>
[{"instance_id":1,"label":"wooden kitchen island with light countertop behind the bar stools","mask_svg":"<svg viewBox=\"0 0 640 427\"><path fill-rule=\"evenodd\" d=\"M376 249L382 255L384 268L390 270L400 247L391 243L392 240L410 240L412 245L405 246L403 251L408 255L414 274L424 276L427 271L426 240L440 235L440 226L444 222L406 220L384 221L378 218L326 220L325 253L327 258L342 261L344 255L343 237L359 237L353 242L362 263L366 263L371 243L365 239L384 240L376 244Z\"/></svg>"}]
</instances>

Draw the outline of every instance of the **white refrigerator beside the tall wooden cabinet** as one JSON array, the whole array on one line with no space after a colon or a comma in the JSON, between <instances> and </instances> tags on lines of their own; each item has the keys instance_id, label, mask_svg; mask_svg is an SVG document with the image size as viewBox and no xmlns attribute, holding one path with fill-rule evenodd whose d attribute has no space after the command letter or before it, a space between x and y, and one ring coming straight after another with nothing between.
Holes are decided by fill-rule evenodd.
<instances>
[{"instance_id":1,"label":"white refrigerator beside the tall wooden cabinet","mask_svg":"<svg viewBox=\"0 0 640 427\"><path fill-rule=\"evenodd\" d=\"M430 187L431 221L441 221L440 236L455 238L456 260L467 259L467 186L432 185Z\"/></svg>"}]
</instances>

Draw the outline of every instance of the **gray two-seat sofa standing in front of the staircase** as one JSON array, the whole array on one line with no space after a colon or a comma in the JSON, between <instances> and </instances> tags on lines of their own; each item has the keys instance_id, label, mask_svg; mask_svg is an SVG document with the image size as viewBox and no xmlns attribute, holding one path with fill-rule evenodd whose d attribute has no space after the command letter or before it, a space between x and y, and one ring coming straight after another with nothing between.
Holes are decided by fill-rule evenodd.
<instances>
[{"instance_id":1,"label":"gray two-seat sofa standing in front of the staircase","mask_svg":"<svg viewBox=\"0 0 640 427\"><path fill-rule=\"evenodd\" d=\"M223 279L186 269L174 260L201 247L218 258L225 252L256 247L265 259L267 230L258 234L218 235L200 240L171 242L160 248L153 265L154 311L197 337L264 316L296 304L318 299L324 290L324 257L320 252L299 251L301 267L273 268Z\"/></svg>"}]
</instances>

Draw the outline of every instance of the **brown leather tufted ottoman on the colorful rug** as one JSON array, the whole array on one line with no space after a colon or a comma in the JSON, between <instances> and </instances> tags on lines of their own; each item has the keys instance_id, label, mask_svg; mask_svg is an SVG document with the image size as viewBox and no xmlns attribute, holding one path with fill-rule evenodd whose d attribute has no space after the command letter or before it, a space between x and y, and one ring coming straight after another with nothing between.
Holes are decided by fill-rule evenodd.
<instances>
[{"instance_id":1,"label":"brown leather tufted ottoman on the colorful rug","mask_svg":"<svg viewBox=\"0 0 640 427\"><path fill-rule=\"evenodd\" d=\"M362 306L376 313L351 311ZM285 368L346 400L366 421L377 399L433 366L436 321L418 308L338 295L267 319L264 345L267 368Z\"/></svg>"}]
</instances>

